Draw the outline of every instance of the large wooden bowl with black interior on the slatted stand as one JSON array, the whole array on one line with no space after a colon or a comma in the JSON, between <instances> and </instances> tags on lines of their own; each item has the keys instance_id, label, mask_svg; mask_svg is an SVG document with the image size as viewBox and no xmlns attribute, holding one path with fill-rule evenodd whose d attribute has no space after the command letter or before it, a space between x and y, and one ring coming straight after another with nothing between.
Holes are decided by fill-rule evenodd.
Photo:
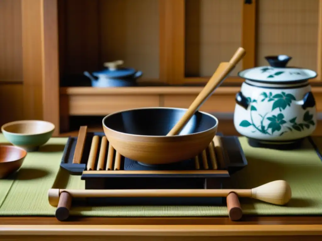
<instances>
[{"instance_id":1,"label":"large wooden bowl with black interior on the slatted stand","mask_svg":"<svg viewBox=\"0 0 322 241\"><path fill-rule=\"evenodd\" d=\"M156 107L116 112L104 117L104 133L119 154L142 164L183 161L208 147L218 126L213 115L196 112L178 135L166 136L186 110Z\"/></svg>"}]
</instances>

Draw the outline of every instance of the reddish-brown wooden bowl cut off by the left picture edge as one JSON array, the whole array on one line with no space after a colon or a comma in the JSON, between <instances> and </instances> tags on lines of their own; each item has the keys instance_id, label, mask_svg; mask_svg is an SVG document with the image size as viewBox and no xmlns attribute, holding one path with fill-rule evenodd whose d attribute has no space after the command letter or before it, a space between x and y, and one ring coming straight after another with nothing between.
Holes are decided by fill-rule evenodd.
<instances>
[{"instance_id":1,"label":"reddish-brown wooden bowl cut off by the left picture edge","mask_svg":"<svg viewBox=\"0 0 322 241\"><path fill-rule=\"evenodd\" d=\"M0 146L0 178L5 178L17 171L26 156L27 152L23 148Z\"/></svg>"}]
</instances>

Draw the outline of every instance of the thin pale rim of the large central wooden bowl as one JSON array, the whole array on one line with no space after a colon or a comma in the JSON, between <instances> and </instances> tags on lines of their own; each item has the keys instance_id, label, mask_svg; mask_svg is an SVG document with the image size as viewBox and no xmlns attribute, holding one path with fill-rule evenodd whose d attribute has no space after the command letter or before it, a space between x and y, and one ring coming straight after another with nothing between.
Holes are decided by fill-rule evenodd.
<instances>
[{"instance_id":1,"label":"thin pale rim of the large central wooden bowl","mask_svg":"<svg viewBox=\"0 0 322 241\"><path fill-rule=\"evenodd\" d=\"M137 134L128 134L128 133L124 133L124 132L120 132L120 131L117 131L117 130L113 130L109 127L107 127L105 124L104 124L104 121L105 119L109 118L110 116L112 115L115 115L115 114L118 114L118 113L122 113L122 112L127 112L127 111L135 111L135 110L147 110L147 109L170 109L170 110L185 110L187 111L188 109L187 108L176 108L176 107L143 107L143 108L133 108L133 109L127 109L127 110L122 110L122 111L118 111L118 112L113 112L107 116L105 116L102 120L102 124L103 124L103 127L106 128L106 129L109 129L115 133L119 133L121 135L125 135L125 136L131 136L131 137L146 137L146 138L178 138L178 137L194 137L196 135L200 135L201 133L206 133L206 132L209 132L211 131L212 129L216 129L218 127L218 119L213 116L212 114L209 114L207 112L203 112L203 111L198 111L202 114L205 114L205 115L208 115L210 116L211 118L213 118L215 121L216 121L216 124L209 128L209 129L206 129L204 131L199 131L199 132L196 132L196 133L192 133L192 134L187 134L187 135L174 135L174 136L148 136L148 135L137 135Z\"/></svg>"}]
</instances>

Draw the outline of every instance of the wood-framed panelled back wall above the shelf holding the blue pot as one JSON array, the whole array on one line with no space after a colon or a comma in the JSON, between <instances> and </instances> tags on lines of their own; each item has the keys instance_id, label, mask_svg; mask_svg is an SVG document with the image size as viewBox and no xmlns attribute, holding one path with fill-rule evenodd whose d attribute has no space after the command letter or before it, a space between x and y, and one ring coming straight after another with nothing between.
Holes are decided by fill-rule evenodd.
<instances>
[{"instance_id":1,"label":"wood-framed panelled back wall above the shelf holding the blue pot","mask_svg":"<svg viewBox=\"0 0 322 241\"><path fill-rule=\"evenodd\" d=\"M287 54L321 72L319 0L58 0L61 75L123 59L144 80L204 83L240 46L238 71ZM321 43L321 44L319 44ZM318 77L319 78L319 77Z\"/></svg>"}]
</instances>

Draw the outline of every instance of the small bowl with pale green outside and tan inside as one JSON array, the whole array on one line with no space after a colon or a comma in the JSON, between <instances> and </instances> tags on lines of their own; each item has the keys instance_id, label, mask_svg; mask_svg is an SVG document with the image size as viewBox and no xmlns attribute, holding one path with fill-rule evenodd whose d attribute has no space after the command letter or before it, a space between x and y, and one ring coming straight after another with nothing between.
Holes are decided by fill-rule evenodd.
<instances>
[{"instance_id":1,"label":"small bowl with pale green outside and tan inside","mask_svg":"<svg viewBox=\"0 0 322 241\"><path fill-rule=\"evenodd\" d=\"M55 125L48 121L26 120L4 124L1 131L5 138L15 146L26 151L37 151L54 132Z\"/></svg>"}]
</instances>

